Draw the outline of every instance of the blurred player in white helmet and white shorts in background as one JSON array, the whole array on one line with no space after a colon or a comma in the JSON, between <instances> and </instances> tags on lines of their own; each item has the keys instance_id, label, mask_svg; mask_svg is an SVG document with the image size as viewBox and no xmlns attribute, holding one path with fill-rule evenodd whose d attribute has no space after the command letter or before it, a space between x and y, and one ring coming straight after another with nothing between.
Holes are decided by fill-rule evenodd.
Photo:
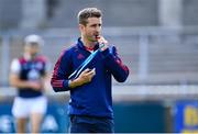
<instances>
[{"instance_id":1,"label":"blurred player in white helmet and white shorts in background","mask_svg":"<svg viewBox=\"0 0 198 134\"><path fill-rule=\"evenodd\" d=\"M48 74L46 58L38 54L43 40L37 35L29 35L24 40L24 54L11 64L10 85L18 89L12 108L16 119L16 132L25 133L28 119L32 133L38 133L47 100L44 86Z\"/></svg>"}]
</instances>

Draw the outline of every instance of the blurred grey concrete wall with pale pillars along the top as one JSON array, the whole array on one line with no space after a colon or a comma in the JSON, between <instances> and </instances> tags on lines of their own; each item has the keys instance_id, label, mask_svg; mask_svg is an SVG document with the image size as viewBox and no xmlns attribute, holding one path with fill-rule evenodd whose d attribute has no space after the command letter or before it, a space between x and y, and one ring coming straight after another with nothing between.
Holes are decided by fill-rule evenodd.
<instances>
[{"instance_id":1,"label":"blurred grey concrete wall with pale pillars along the top","mask_svg":"<svg viewBox=\"0 0 198 134\"><path fill-rule=\"evenodd\" d=\"M197 5L197 0L0 0L0 29L76 27L78 11L87 7L103 11L105 26L198 25Z\"/></svg>"}]
</instances>

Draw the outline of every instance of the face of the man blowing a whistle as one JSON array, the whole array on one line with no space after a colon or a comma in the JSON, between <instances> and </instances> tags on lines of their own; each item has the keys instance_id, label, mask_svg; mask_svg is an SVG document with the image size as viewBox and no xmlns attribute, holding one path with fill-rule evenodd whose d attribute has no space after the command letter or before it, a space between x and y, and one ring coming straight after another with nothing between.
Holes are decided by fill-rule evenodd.
<instances>
[{"instance_id":1,"label":"face of the man blowing a whistle","mask_svg":"<svg viewBox=\"0 0 198 134\"><path fill-rule=\"evenodd\" d=\"M97 42L97 36L101 34L101 18L88 18L86 25L80 26L81 34L89 42Z\"/></svg>"}]
</instances>

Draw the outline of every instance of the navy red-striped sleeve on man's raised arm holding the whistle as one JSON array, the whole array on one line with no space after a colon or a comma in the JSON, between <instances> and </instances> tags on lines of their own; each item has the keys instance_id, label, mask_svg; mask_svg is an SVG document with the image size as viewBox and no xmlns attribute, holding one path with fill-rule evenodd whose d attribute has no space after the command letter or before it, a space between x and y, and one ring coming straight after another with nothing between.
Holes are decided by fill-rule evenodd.
<instances>
[{"instance_id":1,"label":"navy red-striped sleeve on man's raised arm holding the whistle","mask_svg":"<svg viewBox=\"0 0 198 134\"><path fill-rule=\"evenodd\" d=\"M102 54L107 69L112 74L117 81L124 82L129 76L129 68L118 56L117 48L114 46L110 46L103 51Z\"/></svg>"}]
</instances>

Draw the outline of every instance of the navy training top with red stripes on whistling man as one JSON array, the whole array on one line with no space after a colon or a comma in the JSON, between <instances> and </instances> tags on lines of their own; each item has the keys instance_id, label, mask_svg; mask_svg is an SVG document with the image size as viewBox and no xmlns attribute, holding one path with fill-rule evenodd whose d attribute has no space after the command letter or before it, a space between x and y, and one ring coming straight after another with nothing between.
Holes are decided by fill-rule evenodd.
<instances>
[{"instance_id":1,"label":"navy training top with red stripes on whistling man","mask_svg":"<svg viewBox=\"0 0 198 134\"><path fill-rule=\"evenodd\" d=\"M95 46L95 51L99 45ZM80 38L77 44L65 49L54 67L51 85L54 91L70 91L69 115L90 115L113 118L111 76L119 82L125 81L129 68L118 57L114 46L97 53L86 68L96 68L91 82L70 89L68 76L80 66L91 53L86 49Z\"/></svg>"}]
</instances>

